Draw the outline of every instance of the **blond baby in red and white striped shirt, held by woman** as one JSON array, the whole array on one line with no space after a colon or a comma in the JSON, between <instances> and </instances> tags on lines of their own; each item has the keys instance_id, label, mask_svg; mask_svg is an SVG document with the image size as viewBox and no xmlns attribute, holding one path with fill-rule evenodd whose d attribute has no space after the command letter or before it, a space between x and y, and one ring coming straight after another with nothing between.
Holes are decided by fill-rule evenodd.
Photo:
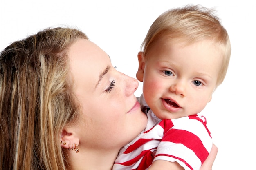
<instances>
[{"instance_id":1,"label":"blond baby in red and white striped shirt, held by woman","mask_svg":"<svg viewBox=\"0 0 256 170\"><path fill-rule=\"evenodd\" d=\"M198 115L226 75L231 47L213 10L171 9L150 27L138 53L144 132L120 150L113 170L199 170L212 147Z\"/></svg>"}]
</instances>

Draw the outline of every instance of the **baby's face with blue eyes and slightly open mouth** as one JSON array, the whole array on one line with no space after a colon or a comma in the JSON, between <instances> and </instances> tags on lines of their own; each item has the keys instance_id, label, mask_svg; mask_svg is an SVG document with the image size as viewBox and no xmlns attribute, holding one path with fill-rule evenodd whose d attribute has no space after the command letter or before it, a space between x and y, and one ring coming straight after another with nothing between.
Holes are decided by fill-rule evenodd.
<instances>
[{"instance_id":1,"label":"baby's face with blue eyes and slightly open mouth","mask_svg":"<svg viewBox=\"0 0 256 170\"><path fill-rule=\"evenodd\" d=\"M159 39L146 56L143 93L160 119L176 119L203 110L216 87L222 57L215 44Z\"/></svg>"}]
</instances>

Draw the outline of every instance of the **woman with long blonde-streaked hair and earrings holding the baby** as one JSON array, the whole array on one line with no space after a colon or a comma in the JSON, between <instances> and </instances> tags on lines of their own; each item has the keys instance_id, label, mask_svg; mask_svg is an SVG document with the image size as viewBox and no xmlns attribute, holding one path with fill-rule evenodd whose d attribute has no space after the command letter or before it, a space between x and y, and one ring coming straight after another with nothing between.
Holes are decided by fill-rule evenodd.
<instances>
[{"instance_id":1,"label":"woman with long blonde-streaked hair and earrings holding the baby","mask_svg":"<svg viewBox=\"0 0 256 170\"><path fill-rule=\"evenodd\" d=\"M0 168L112 169L146 126L137 86L76 29L13 42L0 55Z\"/></svg>"}]
</instances>

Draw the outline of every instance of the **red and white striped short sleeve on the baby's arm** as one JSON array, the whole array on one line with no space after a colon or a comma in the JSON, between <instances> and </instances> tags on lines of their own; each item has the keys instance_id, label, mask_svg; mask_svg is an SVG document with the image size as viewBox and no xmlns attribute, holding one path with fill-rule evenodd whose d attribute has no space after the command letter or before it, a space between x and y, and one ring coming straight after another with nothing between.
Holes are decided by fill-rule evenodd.
<instances>
[{"instance_id":1,"label":"red and white striped short sleeve on the baby's arm","mask_svg":"<svg viewBox=\"0 0 256 170\"><path fill-rule=\"evenodd\" d=\"M164 136L153 161L176 161L185 170L199 170L213 144L206 119L193 115L162 120L160 125L164 128Z\"/></svg>"}]
</instances>

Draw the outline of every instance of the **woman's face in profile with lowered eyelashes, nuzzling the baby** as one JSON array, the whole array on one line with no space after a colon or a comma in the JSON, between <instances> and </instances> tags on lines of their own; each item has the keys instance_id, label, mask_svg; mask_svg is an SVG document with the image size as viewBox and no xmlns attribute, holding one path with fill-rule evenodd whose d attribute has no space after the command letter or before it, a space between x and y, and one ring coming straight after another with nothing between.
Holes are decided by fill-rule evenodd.
<instances>
[{"instance_id":1,"label":"woman's face in profile with lowered eyelashes, nuzzling the baby","mask_svg":"<svg viewBox=\"0 0 256 170\"><path fill-rule=\"evenodd\" d=\"M81 104L80 146L121 148L146 126L133 94L138 82L117 71L96 44L80 39L69 51L74 93Z\"/></svg>"}]
</instances>

